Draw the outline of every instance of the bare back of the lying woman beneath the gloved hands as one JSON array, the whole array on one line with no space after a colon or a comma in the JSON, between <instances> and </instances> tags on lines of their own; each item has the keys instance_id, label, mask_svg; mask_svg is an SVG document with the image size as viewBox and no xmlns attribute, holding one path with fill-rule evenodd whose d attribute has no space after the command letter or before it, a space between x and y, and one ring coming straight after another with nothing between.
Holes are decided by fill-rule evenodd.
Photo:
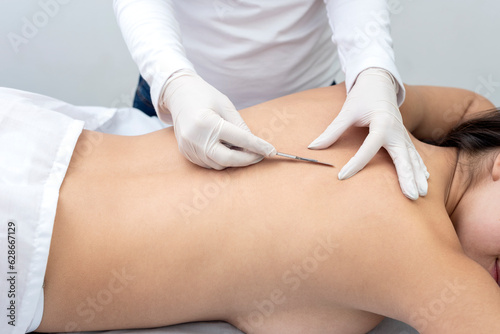
<instances>
[{"instance_id":1,"label":"bare back of the lying woman beneath the gloved hands","mask_svg":"<svg viewBox=\"0 0 500 334\"><path fill-rule=\"evenodd\" d=\"M82 134L61 189L39 330L226 320L257 333L363 333L375 314L397 317L415 266L460 246L438 172L412 202L385 151L338 181L365 129L307 149L344 97L330 87L242 111L278 151L335 168L273 158L219 172L182 157L172 129Z\"/></svg>"}]
</instances>

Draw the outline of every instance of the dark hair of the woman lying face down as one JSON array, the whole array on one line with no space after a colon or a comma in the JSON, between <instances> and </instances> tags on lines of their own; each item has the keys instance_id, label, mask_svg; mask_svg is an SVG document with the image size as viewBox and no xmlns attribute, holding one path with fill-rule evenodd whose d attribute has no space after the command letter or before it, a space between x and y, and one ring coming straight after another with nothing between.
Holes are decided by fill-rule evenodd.
<instances>
[{"instance_id":1,"label":"dark hair of the woman lying face down","mask_svg":"<svg viewBox=\"0 0 500 334\"><path fill-rule=\"evenodd\" d=\"M500 108L479 113L477 117L456 126L433 144L456 147L470 156L500 148Z\"/></svg>"}]
</instances>

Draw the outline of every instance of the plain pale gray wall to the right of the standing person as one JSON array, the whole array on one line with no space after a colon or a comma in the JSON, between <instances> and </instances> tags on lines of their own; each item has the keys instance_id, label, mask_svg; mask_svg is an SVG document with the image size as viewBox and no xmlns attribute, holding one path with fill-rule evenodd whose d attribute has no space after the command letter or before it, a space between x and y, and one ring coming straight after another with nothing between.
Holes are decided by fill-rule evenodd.
<instances>
[{"instance_id":1,"label":"plain pale gray wall to the right of the standing person","mask_svg":"<svg viewBox=\"0 0 500 334\"><path fill-rule=\"evenodd\" d=\"M403 80L470 89L500 106L500 1L398 2L392 34Z\"/></svg>"}]
</instances>

